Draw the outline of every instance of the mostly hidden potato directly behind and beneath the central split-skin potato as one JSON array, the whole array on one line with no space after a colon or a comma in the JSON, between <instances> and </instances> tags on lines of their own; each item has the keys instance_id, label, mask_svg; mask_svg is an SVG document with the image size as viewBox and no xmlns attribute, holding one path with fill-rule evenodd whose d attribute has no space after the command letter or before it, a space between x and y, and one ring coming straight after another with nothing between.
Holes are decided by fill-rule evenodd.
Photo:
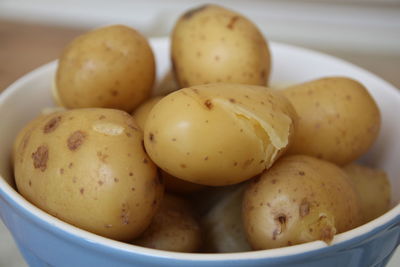
<instances>
[{"instance_id":1,"label":"mostly hidden potato directly behind and beneath the central split-skin potato","mask_svg":"<svg viewBox=\"0 0 400 267\"><path fill-rule=\"evenodd\" d=\"M141 129L144 129L145 122L147 120L147 117L149 116L151 109L162 98L163 96L150 98L146 102L141 104L132 113L133 118ZM160 171L160 175L163 178L165 189L169 192L186 194L199 191L204 188L203 185L194 184L188 181L184 181L182 179L178 179L162 170Z\"/></svg>"}]
</instances>

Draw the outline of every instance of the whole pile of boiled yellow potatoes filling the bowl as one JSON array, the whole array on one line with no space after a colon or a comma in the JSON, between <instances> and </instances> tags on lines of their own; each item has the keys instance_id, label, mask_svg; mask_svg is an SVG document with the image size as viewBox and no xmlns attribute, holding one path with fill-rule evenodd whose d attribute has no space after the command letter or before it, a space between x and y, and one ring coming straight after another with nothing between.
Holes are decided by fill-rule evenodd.
<instances>
[{"instance_id":1,"label":"whole pile of boiled yellow potatoes filling the bowl","mask_svg":"<svg viewBox=\"0 0 400 267\"><path fill-rule=\"evenodd\" d=\"M64 109L16 137L21 195L92 233L181 252L329 244L389 209L385 172L355 163L381 124L360 82L268 87L267 40L217 5L179 18L169 93L151 97L155 64L127 26L73 40L53 86Z\"/></svg>"}]
</instances>

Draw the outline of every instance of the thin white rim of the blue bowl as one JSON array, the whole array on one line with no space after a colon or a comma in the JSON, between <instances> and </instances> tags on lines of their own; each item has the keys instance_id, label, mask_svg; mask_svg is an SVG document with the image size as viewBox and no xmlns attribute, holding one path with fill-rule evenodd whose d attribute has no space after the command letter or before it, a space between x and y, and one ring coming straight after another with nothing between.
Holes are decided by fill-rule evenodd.
<instances>
[{"instance_id":1,"label":"thin white rim of the blue bowl","mask_svg":"<svg viewBox=\"0 0 400 267\"><path fill-rule=\"evenodd\" d=\"M161 42L166 38L154 38L151 39L152 42ZM400 96L399 92L394 88L394 86L390 85L386 81L377 77L375 74L369 73L368 71L355 66L349 62L338 59L336 57L332 57L326 55L324 53L320 53L317 51L309 50L306 48L301 48L293 45L282 44L277 42L270 42L270 47L273 49L274 47L281 46L286 47L288 49L296 49L302 50L303 52L307 52L313 54L313 56L325 57L329 58L329 60L341 61L343 64L351 65L357 70L360 70L364 73L368 73L368 75L372 76L374 79L379 80L380 82L385 83L387 86L385 89L391 90L392 93ZM12 94L14 91L17 91L18 88L23 86L25 83L34 79L36 76L42 75L45 72L50 71L55 68L57 61L52 61L41 67L29 72L28 74L22 76L18 80L16 80L13 84L11 84L8 88L6 88L0 94L0 105L2 102L7 99L7 97ZM0 174L0 197L4 198L6 202L16 208L16 212L23 213L23 216L34 222L35 224L44 226L51 226L46 228L47 231L51 231L56 235L60 235L60 232L65 234L66 236L72 235L71 238L75 238L78 240L77 242L84 241L87 244L96 244L101 245L103 247L109 247L111 249L119 250L121 252L127 252L132 255L141 254L147 255L151 257L160 257L160 258L173 258L174 260L190 260L190 261L225 261L225 260L249 260L249 259L266 259L266 258L279 258L286 256L298 256L299 254L308 254L311 252L317 252L320 249L324 248L332 248L340 246L345 242L350 242L352 239L357 239L362 237L363 235L368 235L374 231L377 231L383 226L389 226L391 224L395 224L400 221L400 203L395 205L391 210L383 214L382 216L362 225L350 231L338 234L335 236L331 245L327 245L322 241L314 241L305 244L277 248L277 249L268 249L268 250L259 250L259 251L249 251L249 252L237 252L237 253L180 253L180 252L170 252L170 251L162 251L151 248L140 247L128 243L123 243L120 241L115 241L112 239L108 239L85 230L79 229L75 226L72 226L66 222L63 222L41 209L37 208L27 200L25 200L18 192L10 186L4 177ZM33 215L33 216L32 216ZM53 228L52 228L53 227ZM101 249L101 248L99 248Z\"/></svg>"}]
</instances>

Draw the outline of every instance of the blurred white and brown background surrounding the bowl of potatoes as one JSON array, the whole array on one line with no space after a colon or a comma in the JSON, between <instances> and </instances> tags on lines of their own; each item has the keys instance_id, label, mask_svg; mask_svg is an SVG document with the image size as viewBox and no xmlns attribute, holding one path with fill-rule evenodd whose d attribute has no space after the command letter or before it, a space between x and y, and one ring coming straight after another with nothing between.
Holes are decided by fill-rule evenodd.
<instances>
[{"instance_id":1,"label":"blurred white and brown background surrounding the bowl of potatoes","mask_svg":"<svg viewBox=\"0 0 400 267\"><path fill-rule=\"evenodd\" d=\"M183 12L205 3L242 13L269 41L337 56L400 88L400 0L0 0L0 92L87 30L120 23L168 36ZM399 254L389 266L400 266ZM26 264L0 222L3 266Z\"/></svg>"}]
</instances>

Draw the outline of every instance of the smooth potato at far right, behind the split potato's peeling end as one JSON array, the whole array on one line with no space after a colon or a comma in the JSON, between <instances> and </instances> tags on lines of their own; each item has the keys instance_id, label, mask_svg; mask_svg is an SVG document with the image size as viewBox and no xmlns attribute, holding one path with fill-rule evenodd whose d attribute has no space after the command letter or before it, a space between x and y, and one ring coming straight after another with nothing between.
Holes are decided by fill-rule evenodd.
<instances>
[{"instance_id":1,"label":"smooth potato at far right, behind the split potato's peeling end","mask_svg":"<svg viewBox=\"0 0 400 267\"><path fill-rule=\"evenodd\" d=\"M355 80L327 77L283 92L300 117L289 149L291 154L345 165L366 153L378 136L378 106Z\"/></svg>"}]
</instances>

